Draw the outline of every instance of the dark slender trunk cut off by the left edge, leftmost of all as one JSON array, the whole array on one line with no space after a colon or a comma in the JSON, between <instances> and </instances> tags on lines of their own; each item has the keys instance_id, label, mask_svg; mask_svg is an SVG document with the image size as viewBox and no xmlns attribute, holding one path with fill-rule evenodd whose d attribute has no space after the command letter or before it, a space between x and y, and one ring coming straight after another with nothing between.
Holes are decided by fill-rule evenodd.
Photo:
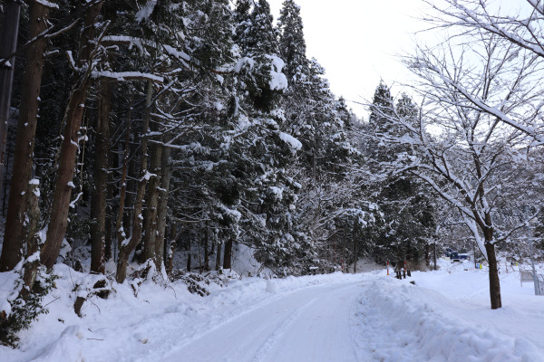
<instances>
[{"instance_id":1,"label":"dark slender trunk cut off by the left edge, leftmost of all","mask_svg":"<svg viewBox=\"0 0 544 362\"><path fill-rule=\"evenodd\" d=\"M37 17L33 17L34 14L32 9L34 9L34 7L35 5L33 2L33 5L31 5L31 14L30 14L31 32L33 31L32 29L34 28L33 23L37 23L37 19L38 19ZM21 14L21 3L16 0L6 0L4 10L5 10L5 16L2 23L2 29L0 31L0 59L7 58L9 55L15 52L15 48L17 47L17 34L19 32L19 17ZM46 17L47 16L45 15L45 18ZM40 22L40 23L45 23L45 22ZM30 37L32 37L32 35ZM30 50L29 52L32 52L32 50ZM13 82L14 82L14 73L15 73L15 58L10 59L9 64L0 65L0 195L2 195L2 189L4 187L5 139L7 137L7 121L9 119L9 107L11 105L11 94L12 94L12 88L13 88ZM41 78L42 77L40 77L40 79ZM4 242L4 248L5 248L5 245L6 244ZM17 262L20 259L20 255L13 255L13 257L17 257ZM17 262L15 262L15 264ZM12 270L15 267L15 264L12 266L12 263L13 262L9 262L8 264L5 264L4 262L0 262L0 271ZM7 267L7 269L5 269L5 267Z\"/></svg>"}]
</instances>

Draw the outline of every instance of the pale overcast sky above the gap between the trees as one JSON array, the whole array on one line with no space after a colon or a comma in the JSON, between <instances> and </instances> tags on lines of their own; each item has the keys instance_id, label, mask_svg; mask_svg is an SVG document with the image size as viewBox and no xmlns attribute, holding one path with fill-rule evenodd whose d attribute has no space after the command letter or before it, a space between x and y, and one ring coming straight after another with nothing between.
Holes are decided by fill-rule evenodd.
<instances>
[{"instance_id":1,"label":"pale overcast sky above the gap between the trees","mask_svg":"<svg viewBox=\"0 0 544 362\"><path fill-rule=\"evenodd\" d=\"M283 0L268 1L276 24ZM296 0L304 22L306 55L325 67L333 92L346 100L372 100L380 79L389 86L406 81L409 71L395 56L410 52L414 33L426 27L418 20L425 9L423 0L332 3ZM393 93L398 91L400 87L393 87ZM349 105L366 117L362 107Z\"/></svg>"}]
</instances>

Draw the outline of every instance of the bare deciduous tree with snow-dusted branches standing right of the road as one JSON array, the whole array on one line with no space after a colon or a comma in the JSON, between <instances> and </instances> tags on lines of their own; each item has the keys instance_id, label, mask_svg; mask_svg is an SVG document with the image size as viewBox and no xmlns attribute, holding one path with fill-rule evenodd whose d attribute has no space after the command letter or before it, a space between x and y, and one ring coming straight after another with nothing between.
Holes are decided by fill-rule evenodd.
<instances>
[{"instance_id":1,"label":"bare deciduous tree with snow-dusted branches standing right of the road","mask_svg":"<svg viewBox=\"0 0 544 362\"><path fill-rule=\"evenodd\" d=\"M405 130L402 137L381 135L382 142L417 149L417 157L400 154L387 166L423 179L471 231L489 262L491 309L498 309L495 247L540 213L542 195L524 197L541 177L527 172L539 162L533 138L527 137L527 129L501 122L496 113L515 114L518 125L532 127L540 92L527 86L539 63L532 54L503 46L500 38L481 37L471 45L471 51L448 44L442 52L420 48L405 59L420 79L413 85L423 99L417 117L380 108L374 112ZM494 111L478 100L493 104ZM533 214L521 212L528 207Z\"/></svg>"}]
</instances>

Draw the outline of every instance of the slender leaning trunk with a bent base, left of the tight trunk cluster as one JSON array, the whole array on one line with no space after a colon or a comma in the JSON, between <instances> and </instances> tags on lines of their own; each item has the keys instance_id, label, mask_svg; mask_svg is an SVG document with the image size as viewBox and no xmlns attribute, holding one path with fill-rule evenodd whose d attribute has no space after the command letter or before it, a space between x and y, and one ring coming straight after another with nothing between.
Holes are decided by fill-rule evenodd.
<instances>
[{"instance_id":1,"label":"slender leaning trunk with a bent base, left of the tight trunk cluster","mask_svg":"<svg viewBox=\"0 0 544 362\"><path fill-rule=\"evenodd\" d=\"M147 165L147 148L148 137L147 133L150 128L151 118L151 100L153 95L153 84L148 81L147 85L147 98L145 101L145 116L143 118L142 138L141 138L141 178L138 181L138 189L136 191L136 197L134 199L134 213L132 218L132 233L131 238L124 240L119 247L119 258L117 260L117 282L123 282L127 277L127 264L129 262L129 256L131 252L136 249L136 246L141 241L141 229L142 229L142 209L143 209L143 197L145 195L145 188L149 178L148 165Z\"/></svg>"}]
</instances>

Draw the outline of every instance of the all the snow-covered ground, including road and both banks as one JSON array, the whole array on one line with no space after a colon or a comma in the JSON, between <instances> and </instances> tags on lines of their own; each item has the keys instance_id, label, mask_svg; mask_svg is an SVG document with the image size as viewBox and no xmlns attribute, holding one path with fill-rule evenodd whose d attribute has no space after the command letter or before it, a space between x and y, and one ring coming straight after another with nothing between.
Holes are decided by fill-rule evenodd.
<instances>
[{"instance_id":1,"label":"all the snow-covered ground, including road and both banks","mask_svg":"<svg viewBox=\"0 0 544 362\"><path fill-rule=\"evenodd\" d=\"M471 266L403 281L385 270L231 279L207 297L180 282L145 281L137 297L113 284L79 318L73 289L89 276L59 264L50 312L0 361L543 361L544 297L510 268L491 310L487 272Z\"/></svg>"}]
</instances>

